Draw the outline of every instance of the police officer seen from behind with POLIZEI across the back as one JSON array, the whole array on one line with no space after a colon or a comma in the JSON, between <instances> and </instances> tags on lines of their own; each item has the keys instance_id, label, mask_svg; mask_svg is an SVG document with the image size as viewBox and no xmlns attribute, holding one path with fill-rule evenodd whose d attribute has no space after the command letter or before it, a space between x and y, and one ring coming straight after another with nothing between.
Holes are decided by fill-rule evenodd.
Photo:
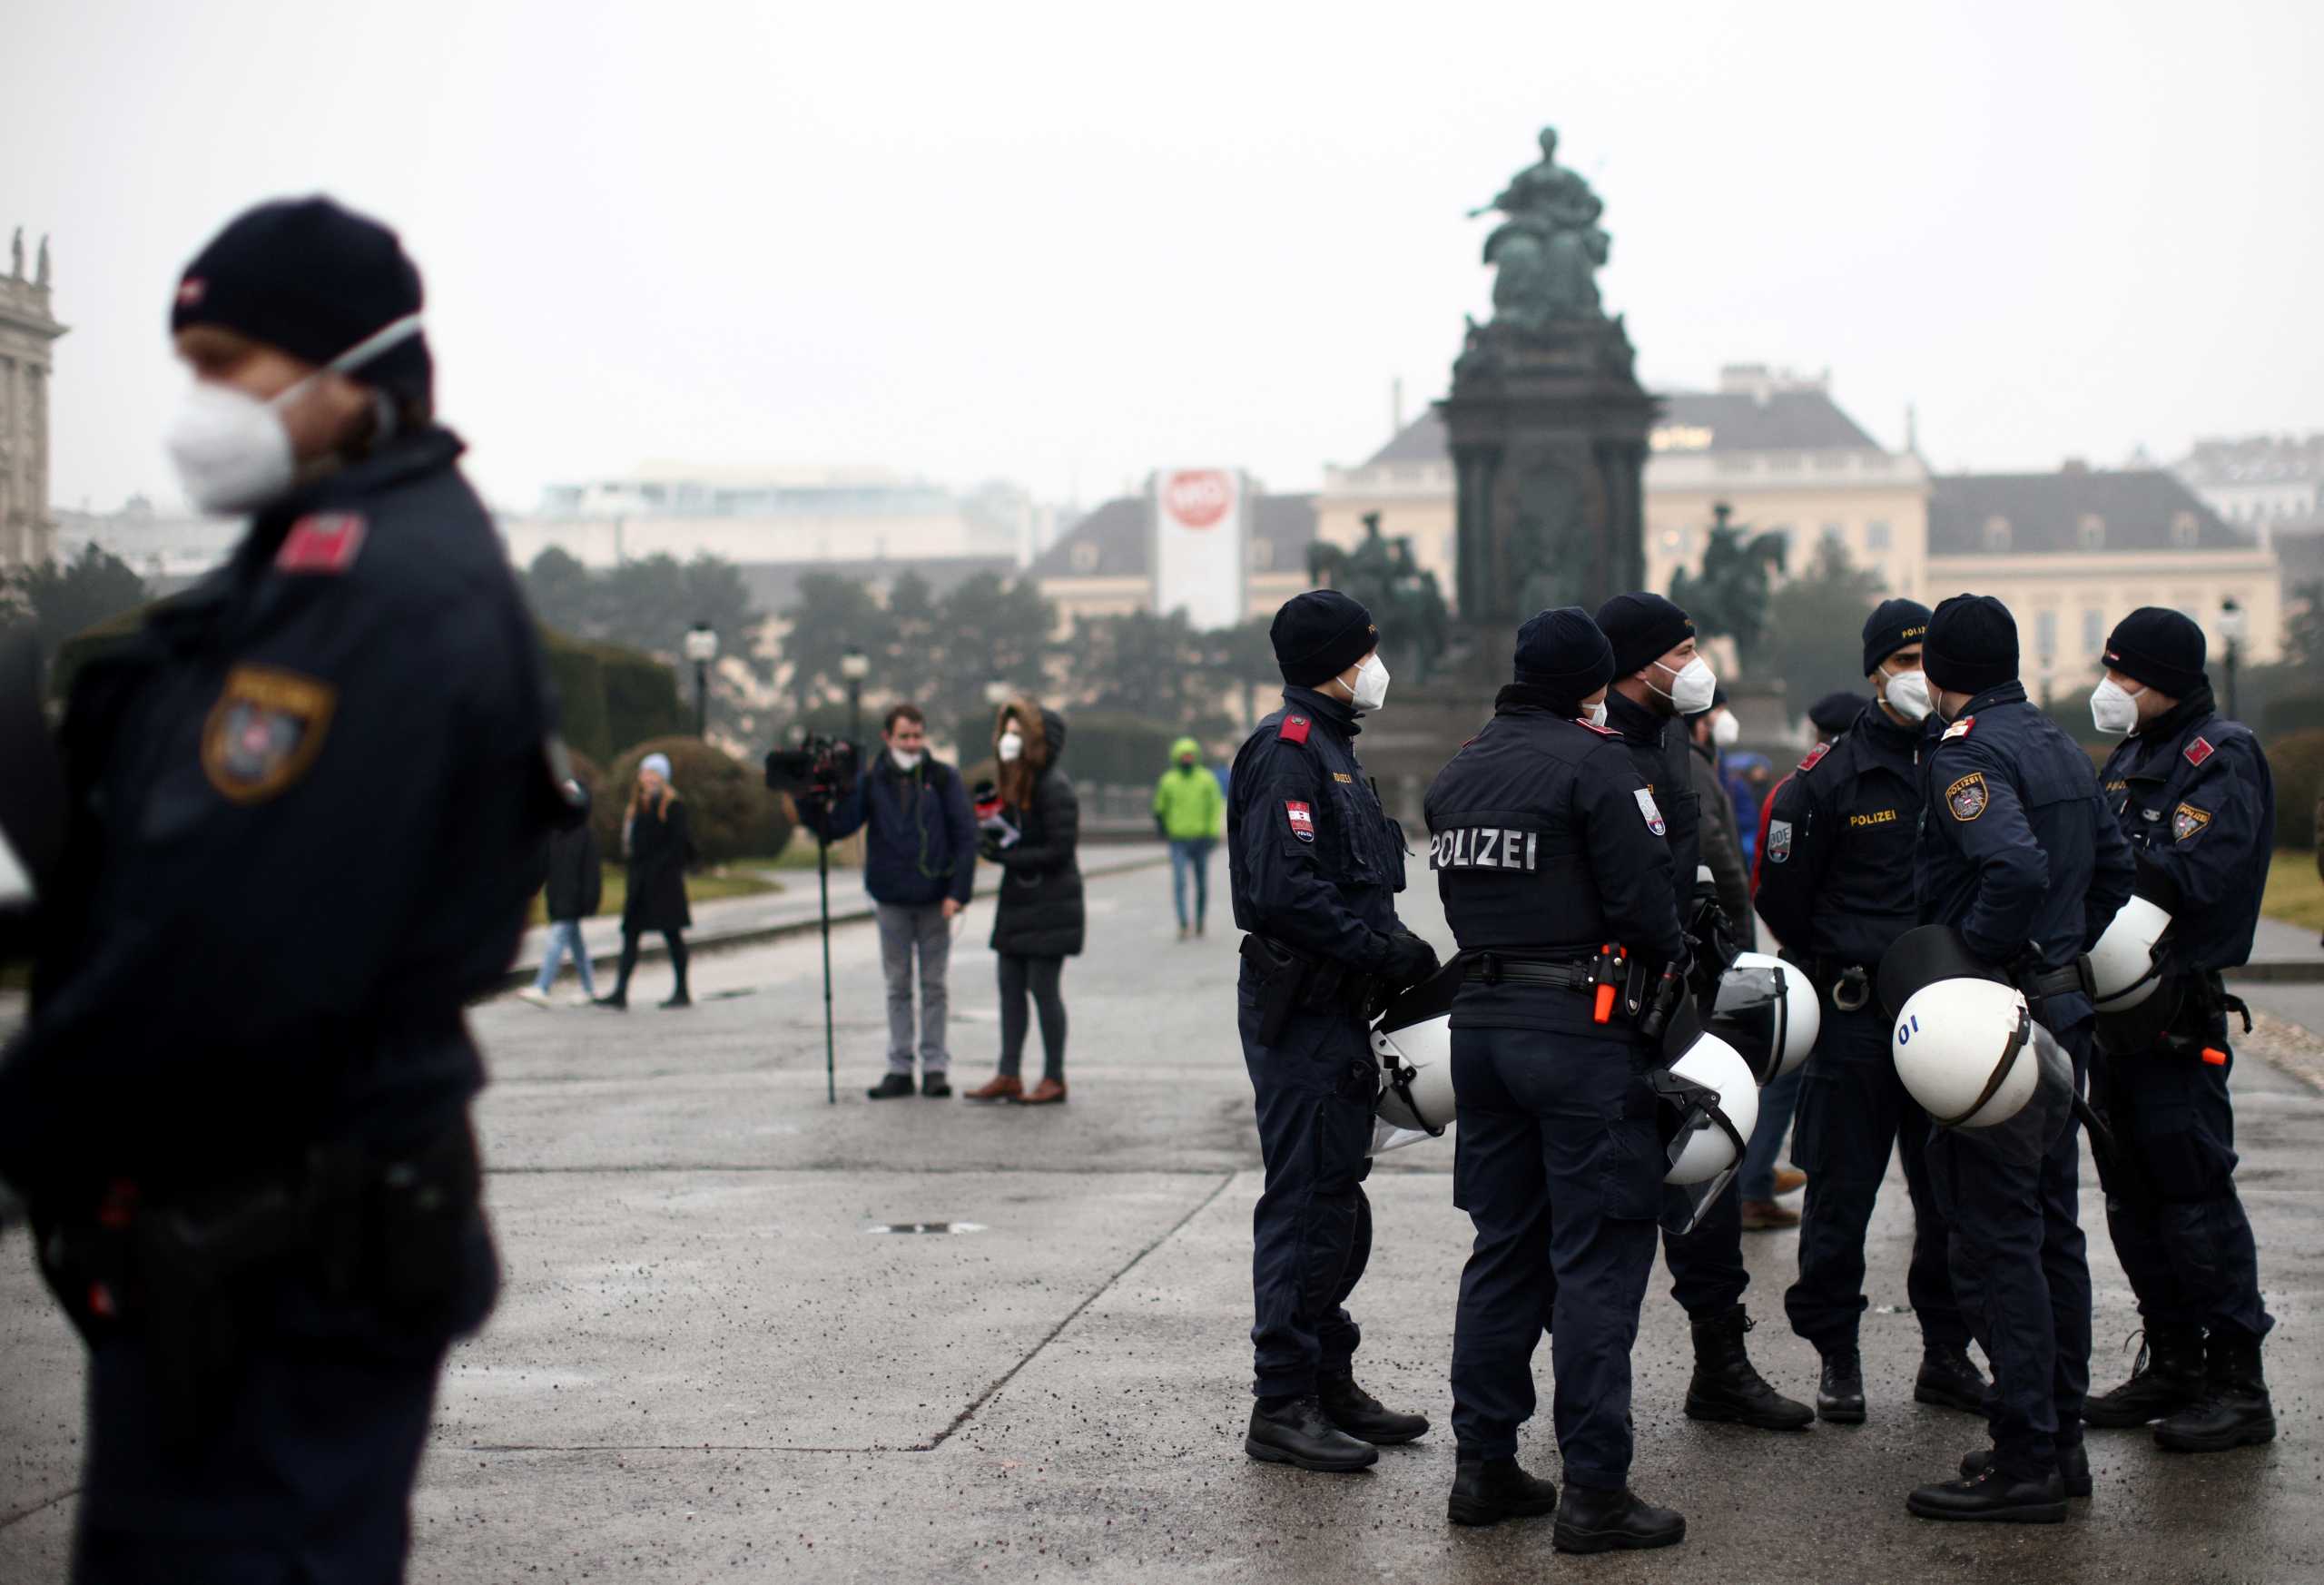
<instances>
[{"instance_id":1,"label":"police officer seen from behind with POLIZEI across the back","mask_svg":"<svg viewBox=\"0 0 2324 1585\"><path fill-rule=\"evenodd\" d=\"M1557 1508L1518 1466L1534 1343L1555 1334L1562 1552L1671 1545L1687 1522L1629 1492L1629 1350L1655 1267L1664 1155L1655 1041L1592 971L1606 944L1685 958L1669 813L1604 723L1613 648L1580 607L1518 630L1518 681L1429 788L1429 862L1459 941L1455 1204L1476 1222L1452 1325L1455 1525Z\"/></svg>"}]
</instances>

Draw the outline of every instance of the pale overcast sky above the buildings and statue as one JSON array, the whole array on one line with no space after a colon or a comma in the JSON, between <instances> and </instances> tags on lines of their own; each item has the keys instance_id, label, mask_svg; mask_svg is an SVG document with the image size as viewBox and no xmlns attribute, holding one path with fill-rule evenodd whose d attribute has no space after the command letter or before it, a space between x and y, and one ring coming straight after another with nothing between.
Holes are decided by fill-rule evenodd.
<instances>
[{"instance_id":1,"label":"pale overcast sky above the buildings and statue","mask_svg":"<svg viewBox=\"0 0 2324 1585\"><path fill-rule=\"evenodd\" d=\"M428 277L486 493L646 458L1311 488L1441 395L1555 123L1641 372L1831 367L1938 467L2324 428L2312 2L14 0L56 500L174 500L184 260L330 191ZM30 246L30 242L28 242Z\"/></svg>"}]
</instances>

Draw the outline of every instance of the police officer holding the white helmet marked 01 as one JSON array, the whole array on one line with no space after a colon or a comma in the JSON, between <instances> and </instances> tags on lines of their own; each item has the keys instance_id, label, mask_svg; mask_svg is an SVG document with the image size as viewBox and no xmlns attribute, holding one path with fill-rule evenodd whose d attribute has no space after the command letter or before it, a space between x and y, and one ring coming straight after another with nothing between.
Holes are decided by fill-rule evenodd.
<instances>
[{"instance_id":1,"label":"police officer holding the white helmet marked 01","mask_svg":"<svg viewBox=\"0 0 2324 1585\"><path fill-rule=\"evenodd\" d=\"M2071 1053L2080 1088L2092 1004L2078 962L2131 895L2131 848L2089 758L2027 702L2008 607L1989 595L1945 600L1929 618L1922 669L1950 725L1922 755L1920 918L1954 927L1973 958L2024 992L2033 1023ZM1992 1453L1973 1453L1959 1480L1913 1492L1913 1513L1931 1520L2054 1525L2068 1492L2089 1492L2080 1148L2071 1118L2024 1153L2008 1132L1938 1127L1929 1139L1929 1183L1952 1227L1952 1292L1994 1367Z\"/></svg>"}]
</instances>

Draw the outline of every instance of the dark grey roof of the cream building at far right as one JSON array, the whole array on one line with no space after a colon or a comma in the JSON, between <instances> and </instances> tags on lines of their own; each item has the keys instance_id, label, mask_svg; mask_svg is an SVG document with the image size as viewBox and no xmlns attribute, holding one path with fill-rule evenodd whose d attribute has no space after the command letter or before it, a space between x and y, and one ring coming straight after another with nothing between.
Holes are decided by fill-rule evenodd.
<instances>
[{"instance_id":1,"label":"dark grey roof of the cream building at far right","mask_svg":"<svg viewBox=\"0 0 2324 1585\"><path fill-rule=\"evenodd\" d=\"M1996 521L2008 525L2006 539L1987 535ZM2096 521L2096 544L2085 544L2085 521ZM2250 551L2254 544L2161 469L1941 474L1929 481L1929 555Z\"/></svg>"}]
</instances>

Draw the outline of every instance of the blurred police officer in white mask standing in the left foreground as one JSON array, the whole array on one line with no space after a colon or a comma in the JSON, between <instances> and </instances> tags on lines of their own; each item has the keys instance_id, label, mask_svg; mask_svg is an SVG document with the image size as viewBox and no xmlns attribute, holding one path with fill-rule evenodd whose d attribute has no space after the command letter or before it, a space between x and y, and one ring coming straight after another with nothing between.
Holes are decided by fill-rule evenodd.
<instances>
[{"instance_id":1,"label":"blurred police officer in white mask standing in the left foreground","mask_svg":"<svg viewBox=\"0 0 2324 1585\"><path fill-rule=\"evenodd\" d=\"M462 1004L562 809L532 623L430 411L393 232L277 202L186 267L170 449L232 560L74 679L0 1176L88 1341L77 1580L388 1580L490 1308Z\"/></svg>"}]
</instances>

